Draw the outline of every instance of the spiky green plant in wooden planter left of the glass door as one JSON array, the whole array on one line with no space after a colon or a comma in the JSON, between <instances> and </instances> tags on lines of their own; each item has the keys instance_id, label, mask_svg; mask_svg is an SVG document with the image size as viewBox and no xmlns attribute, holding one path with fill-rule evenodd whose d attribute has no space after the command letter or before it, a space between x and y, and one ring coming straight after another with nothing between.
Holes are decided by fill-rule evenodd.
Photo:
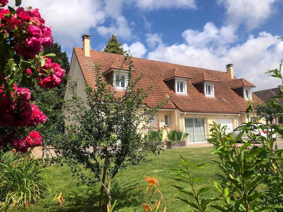
<instances>
[{"instance_id":1,"label":"spiky green plant in wooden planter left of the glass door","mask_svg":"<svg viewBox=\"0 0 283 212\"><path fill-rule=\"evenodd\" d=\"M167 149L184 148L186 147L186 138L189 133L184 133L178 127L176 129L169 129L167 132Z\"/></svg>"}]
</instances>

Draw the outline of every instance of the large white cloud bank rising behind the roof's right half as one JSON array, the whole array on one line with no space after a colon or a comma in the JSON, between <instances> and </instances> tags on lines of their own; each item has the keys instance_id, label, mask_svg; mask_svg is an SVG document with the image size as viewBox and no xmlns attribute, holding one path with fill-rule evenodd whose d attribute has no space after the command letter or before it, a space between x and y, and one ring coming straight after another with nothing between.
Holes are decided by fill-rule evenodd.
<instances>
[{"instance_id":1,"label":"large white cloud bank rising behind the roof's right half","mask_svg":"<svg viewBox=\"0 0 283 212\"><path fill-rule=\"evenodd\" d=\"M211 48L207 43L204 45L201 42L209 33L190 31L189 34L190 38L195 38L196 41L188 41L188 37L185 36L187 43L171 46L161 43L154 51L148 52L148 59L222 71L226 71L226 64L233 63L234 75L255 84L255 90L272 88L280 84L280 80L265 74L267 70L277 68L283 58L283 41L277 39L278 35L261 32L257 37L250 35L243 44L231 47L223 46L220 40L225 40L225 35L221 37L221 33L216 33L217 36L212 39L212 45L216 48ZM220 47L222 51L219 51Z\"/></svg>"}]
</instances>

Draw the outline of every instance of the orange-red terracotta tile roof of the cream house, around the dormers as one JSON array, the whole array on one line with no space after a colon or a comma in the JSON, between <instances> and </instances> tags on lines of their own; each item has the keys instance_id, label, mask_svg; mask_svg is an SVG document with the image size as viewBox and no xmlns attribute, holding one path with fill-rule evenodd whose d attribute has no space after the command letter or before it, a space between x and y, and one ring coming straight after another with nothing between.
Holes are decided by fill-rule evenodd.
<instances>
[{"instance_id":1,"label":"orange-red terracotta tile roof of the cream house, around the dormers","mask_svg":"<svg viewBox=\"0 0 283 212\"><path fill-rule=\"evenodd\" d=\"M94 65L100 64L101 70L103 71L117 59L124 59L123 55L94 50L90 51L90 57L85 57L82 48L76 47L74 47L74 51L78 58L86 83L91 86L95 86ZM246 110L247 101L230 88L229 82L231 81L231 78L226 72L152 61L136 57L133 57L132 61L135 69L133 77L139 76L143 73L143 77L137 83L137 86L148 88L151 84L153 84L151 93L144 101L144 104L148 107L154 107L170 96L171 101L168 101L163 108L175 109L177 107L181 111L204 113L240 113ZM166 72L175 68L182 70L189 76L195 76L205 72L214 79L218 80L219 82L214 85L215 97L205 97L192 84L191 79L187 79L188 95L180 95L173 92L163 81L163 76ZM255 103L262 102L254 94L252 94L252 99Z\"/></svg>"}]
</instances>

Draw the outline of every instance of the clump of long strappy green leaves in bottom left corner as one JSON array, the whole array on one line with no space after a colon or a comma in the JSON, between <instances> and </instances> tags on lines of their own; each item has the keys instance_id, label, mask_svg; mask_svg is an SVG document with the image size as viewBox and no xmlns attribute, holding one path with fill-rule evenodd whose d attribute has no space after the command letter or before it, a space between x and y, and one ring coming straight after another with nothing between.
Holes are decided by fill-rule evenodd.
<instances>
[{"instance_id":1,"label":"clump of long strappy green leaves in bottom left corner","mask_svg":"<svg viewBox=\"0 0 283 212\"><path fill-rule=\"evenodd\" d=\"M10 205L19 208L41 199L49 191L47 171L40 160L28 155L19 157L11 151L0 152L0 210Z\"/></svg>"}]
</instances>

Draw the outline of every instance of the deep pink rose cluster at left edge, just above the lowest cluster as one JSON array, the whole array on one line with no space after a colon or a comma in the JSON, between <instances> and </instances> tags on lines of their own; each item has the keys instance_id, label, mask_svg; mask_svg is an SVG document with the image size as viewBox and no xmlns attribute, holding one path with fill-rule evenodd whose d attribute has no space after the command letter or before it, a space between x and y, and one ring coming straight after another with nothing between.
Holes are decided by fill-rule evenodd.
<instances>
[{"instance_id":1,"label":"deep pink rose cluster at left edge, just above the lowest cluster","mask_svg":"<svg viewBox=\"0 0 283 212\"><path fill-rule=\"evenodd\" d=\"M2 88L2 89L1 89ZM18 88L14 84L11 91L11 100L8 101L3 87L0 87L0 127L26 127L43 123L46 115L39 111L38 106L30 103L30 90L28 88Z\"/></svg>"}]
</instances>

